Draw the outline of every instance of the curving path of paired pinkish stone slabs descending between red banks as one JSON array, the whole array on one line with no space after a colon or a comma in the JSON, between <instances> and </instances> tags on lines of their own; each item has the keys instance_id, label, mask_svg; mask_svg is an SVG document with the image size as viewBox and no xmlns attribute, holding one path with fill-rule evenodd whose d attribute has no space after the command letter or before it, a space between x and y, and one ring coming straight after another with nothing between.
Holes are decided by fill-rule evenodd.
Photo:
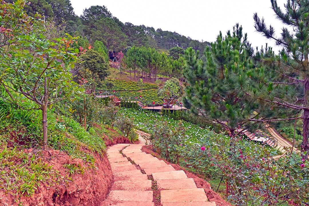
<instances>
[{"instance_id":1,"label":"curving path of paired pinkish stone slabs descending between red banks","mask_svg":"<svg viewBox=\"0 0 309 206\"><path fill-rule=\"evenodd\" d=\"M117 144L107 149L114 184L101 206L154 206L160 198L162 206L215 206L209 202L204 189L197 188L183 170L142 152L149 134L136 131L140 144ZM154 190L160 195L155 196Z\"/></svg>"}]
</instances>

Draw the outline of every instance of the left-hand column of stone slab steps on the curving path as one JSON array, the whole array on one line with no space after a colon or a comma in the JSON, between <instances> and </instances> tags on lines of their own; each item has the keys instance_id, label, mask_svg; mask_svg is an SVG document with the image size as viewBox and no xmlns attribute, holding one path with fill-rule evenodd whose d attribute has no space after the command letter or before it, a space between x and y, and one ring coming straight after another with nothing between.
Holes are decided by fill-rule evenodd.
<instances>
[{"instance_id":1,"label":"left-hand column of stone slab steps on the curving path","mask_svg":"<svg viewBox=\"0 0 309 206\"><path fill-rule=\"evenodd\" d=\"M151 180L120 153L127 146L129 145L117 144L108 148L114 184L101 206L154 206Z\"/></svg>"}]
</instances>

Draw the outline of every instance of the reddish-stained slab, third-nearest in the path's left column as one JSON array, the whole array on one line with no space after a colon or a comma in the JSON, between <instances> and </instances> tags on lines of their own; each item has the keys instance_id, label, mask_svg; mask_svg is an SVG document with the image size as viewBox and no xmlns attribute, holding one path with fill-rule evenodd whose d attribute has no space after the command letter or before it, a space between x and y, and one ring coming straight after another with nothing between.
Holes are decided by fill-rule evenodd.
<instances>
[{"instance_id":1,"label":"reddish-stained slab, third-nearest in the path's left column","mask_svg":"<svg viewBox=\"0 0 309 206\"><path fill-rule=\"evenodd\" d=\"M111 190L151 190L151 180L121 180L114 182Z\"/></svg>"}]
</instances>

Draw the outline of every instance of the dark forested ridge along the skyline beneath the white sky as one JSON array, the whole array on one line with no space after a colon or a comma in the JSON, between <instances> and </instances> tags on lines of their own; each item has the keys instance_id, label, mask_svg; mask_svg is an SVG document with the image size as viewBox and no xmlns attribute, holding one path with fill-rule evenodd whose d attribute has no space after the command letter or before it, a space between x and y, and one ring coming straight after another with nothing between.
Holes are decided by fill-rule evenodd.
<instances>
[{"instance_id":1,"label":"dark forested ridge along the skyline beneath the white sky","mask_svg":"<svg viewBox=\"0 0 309 206\"><path fill-rule=\"evenodd\" d=\"M8 0L7 2L15 2ZM132 46L151 46L168 50L173 47L204 51L209 42L200 42L177 32L163 31L145 25L134 25L121 22L113 16L105 6L85 8L83 15L74 14L70 0L34 0L25 5L28 15L43 14L47 19L53 19L65 27L64 31L73 36L83 36L94 44L96 40L103 41L109 51L126 51Z\"/></svg>"}]
</instances>

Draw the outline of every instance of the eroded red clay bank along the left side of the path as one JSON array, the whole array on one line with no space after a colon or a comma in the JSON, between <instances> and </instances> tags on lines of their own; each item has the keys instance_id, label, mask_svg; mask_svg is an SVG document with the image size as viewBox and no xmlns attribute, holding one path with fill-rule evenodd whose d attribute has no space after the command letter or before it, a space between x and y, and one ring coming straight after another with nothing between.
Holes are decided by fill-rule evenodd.
<instances>
[{"instance_id":1,"label":"eroded red clay bank along the left side of the path","mask_svg":"<svg viewBox=\"0 0 309 206\"><path fill-rule=\"evenodd\" d=\"M124 137L115 137L107 145L129 142ZM40 184L35 194L30 197L15 196L0 190L0 206L93 206L99 205L105 200L113 183L110 163L106 154L99 155L85 148L84 151L95 157L95 164L89 167L82 159L72 159L69 155L59 150L50 149L43 151L40 158L53 169L60 172L61 181L59 185ZM26 153L37 151L28 149ZM64 166L67 164L80 165L84 167L83 174L69 174Z\"/></svg>"}]
</instances>

